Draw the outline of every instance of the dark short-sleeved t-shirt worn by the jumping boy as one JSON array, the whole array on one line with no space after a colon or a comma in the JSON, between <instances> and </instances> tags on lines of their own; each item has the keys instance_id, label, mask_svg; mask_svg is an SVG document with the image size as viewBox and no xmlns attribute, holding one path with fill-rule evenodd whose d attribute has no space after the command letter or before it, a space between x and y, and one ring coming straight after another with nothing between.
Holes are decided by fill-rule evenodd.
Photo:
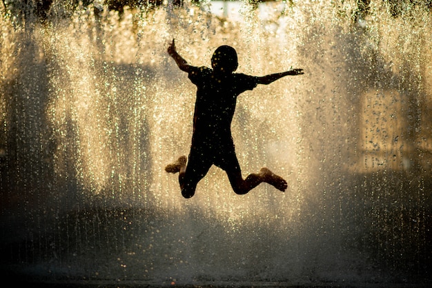
<instances>
[{"instance_id":1,"label":"dark short-sleeved t-shirt worn by the jumping boy","mask_svg":"<svg viewBox=\"0 0 432 288\"><path fill-rule=\"evenodd\" d=\"M215 74L206 67L191 68L188 77L197 85L193 142L230 140L237 96L257 87L257 77L241 73Z\"/></svg>"}]
</instances>

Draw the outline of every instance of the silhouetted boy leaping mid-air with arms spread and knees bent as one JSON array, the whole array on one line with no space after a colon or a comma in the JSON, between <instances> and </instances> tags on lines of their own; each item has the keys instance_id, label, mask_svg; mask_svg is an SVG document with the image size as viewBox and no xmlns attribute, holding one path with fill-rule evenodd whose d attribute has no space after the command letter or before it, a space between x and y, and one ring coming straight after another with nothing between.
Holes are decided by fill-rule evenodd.
<instances>
[{"instance_id":1,"label":"silhouetted boy leaping mid-air with arms spread and knees bent","mask_svg":"<svg viewBox=\"0 0 432 288\"><path fill-rule=\"evenodd\" d=\"M206 176L211 165L224 169L237 194L246 194L262 182L284 192L288 186L286 181L265 167L257 174L242 178L230 126L239 94L253 90L257 84L267 85L287 75L303 74L303 70L294 69L262 77L233 73L238 65L237 52L228 45L216 49L211 59L213 69L189 65L177 53L174 39L168 47L168 54L180 70L188 72L190 81L197 85L188 164L186 156L181 156L175 163L165 167L166 172L179 172L181 194L185 198L192 197L197 183Z\"/></svg>"}]
</instances>

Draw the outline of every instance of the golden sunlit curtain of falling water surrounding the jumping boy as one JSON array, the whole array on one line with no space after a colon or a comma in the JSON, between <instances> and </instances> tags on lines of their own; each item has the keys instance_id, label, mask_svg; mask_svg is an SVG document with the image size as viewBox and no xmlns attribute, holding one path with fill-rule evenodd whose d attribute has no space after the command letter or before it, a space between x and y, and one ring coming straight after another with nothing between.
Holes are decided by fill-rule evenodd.
<instances>
[{"instance_id":1,"label":"golden sunlit curtain of falling water surrounding the jumping boy","mask_svg":"<svg viewBox=\"0 0 432 288\"><path fill-rule=\"evenodd\" d=\"M62 17L55 2L44 23L3 17L2 272L430 283L431 14L353 2L237 3L218 17L191 3ZM226 43L239 72L304 68L242 94L233 120L244 174L271 167L285 194L261 185L237 196L212 168L181 197L164 166L188 153L195 86L166 53L173 38L194 65Z\"/></svg>"}]
</instances>

